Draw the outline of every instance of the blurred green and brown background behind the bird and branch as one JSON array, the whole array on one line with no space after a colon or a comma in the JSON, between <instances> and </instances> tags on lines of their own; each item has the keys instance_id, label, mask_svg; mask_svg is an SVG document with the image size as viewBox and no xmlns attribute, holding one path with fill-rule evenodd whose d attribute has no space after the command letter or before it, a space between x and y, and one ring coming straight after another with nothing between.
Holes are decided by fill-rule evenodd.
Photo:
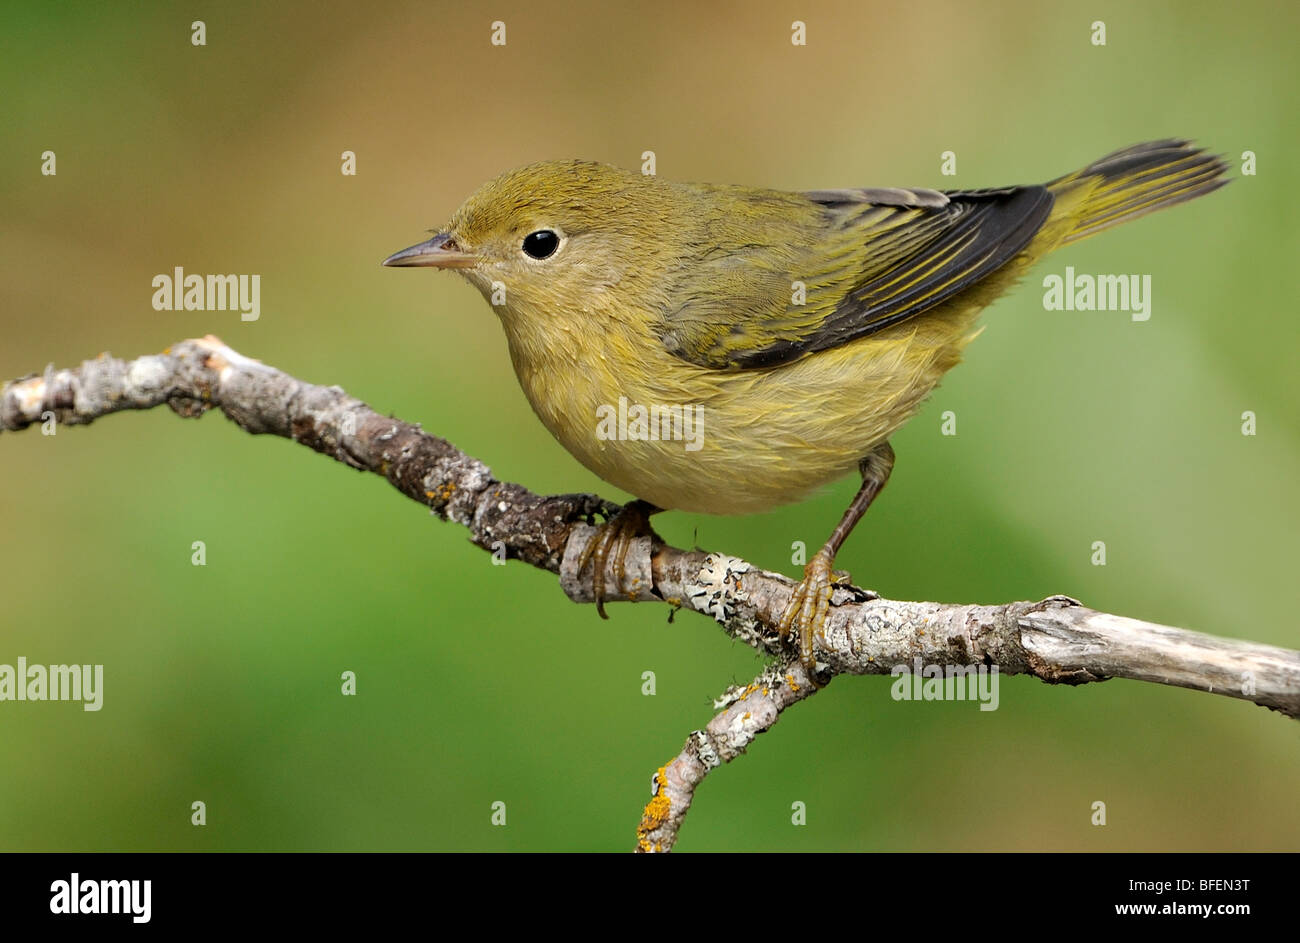
<instances>
[{"instance_id":1,"label":"blurred green and brown background behind the bird and branch","mask_svg":"<svg viewBox=\"0 0 1300 943\"><path fill-rule=\"evenodd\" d=\"M1069 593L1300 645L1295 8L471 7L6 7L0 380L212 332L506 480L625 498L536 421L477 291L378 264L489 177L653 150L677 179L975 187L1192 137L1234 166L1254 151L1258 176L1070 247L998 302L894 438L840 564L897 598ZM1150 321L1044 311L1067 264L1150 273ZM174 265L260 273L261 319L153 311ZM854 488L656 527L793 575L792 541L820 541ZM100 713L0 704L5 849L624 851L654 769L760 667L664 606L602 622L384 481L220 415L5 434L0 520L0 662L105 666ZM1296 849L1297 732L1119 680L1004 679L980 713L840 679L710 777L679 848Z\"/></svg>"}]
</instances>

